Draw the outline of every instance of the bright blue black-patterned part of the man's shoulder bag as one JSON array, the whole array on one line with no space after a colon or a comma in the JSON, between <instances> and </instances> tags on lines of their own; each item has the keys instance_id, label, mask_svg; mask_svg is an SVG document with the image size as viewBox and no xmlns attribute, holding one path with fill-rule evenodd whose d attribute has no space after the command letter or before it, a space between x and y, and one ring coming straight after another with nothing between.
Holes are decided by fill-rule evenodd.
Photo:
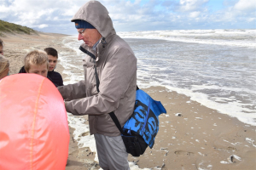
<instances>
[{"instance_id":1,"label":"bright blue black-patterned part of the man's shoulder bag","mask_svg":"<svg viewBox=\"0 0 256 170\"><path fill-rule=\"evenodd\" d=\"M150 148L154 145L154 139L159 130L161 113L166 113L165 107L160 101L155 101L141 89L137 89L136 102L133 114L123 127L123 131L132 135L137 133L143 137Z\"/></svg>"}]
</instances>

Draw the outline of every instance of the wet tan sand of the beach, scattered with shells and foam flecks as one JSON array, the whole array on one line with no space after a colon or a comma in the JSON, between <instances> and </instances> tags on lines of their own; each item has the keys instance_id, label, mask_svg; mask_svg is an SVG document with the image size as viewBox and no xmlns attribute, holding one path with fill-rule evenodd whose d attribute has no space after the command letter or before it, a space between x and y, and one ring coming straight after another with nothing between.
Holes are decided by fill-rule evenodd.
<instances>
[{"instance_id":1,"label":"wet tan sand of the beach, scattered with shells and foam flecks","mask_svg":"<svg viewBox=\"0 0 256 170\"><path fill-rule=\"evenodd\" d=\"M39 32L38 35L11 34L1 37L4 56L10 62L9 74L20 71L23 57L32 49L53 47L58 52L73 53L72 49L62 44L66 36ZM65 78L67 75L63 74L63 70L61 62L58 63L55 71ZM160 115L160 129L153 149L148 148L140 157L129 156L128 161L142 169L256 169L256 127L220 114L165 87L143 90L153 99L161 101L167 114ZM87 116L81 117L84 123L88 123ZM90 148L80 148L78 141L73 139L74 129L70 127L69 130L71 137L66 169L100 169L98 162L94 161L96 153Z\"/></svg>"}]
</instances>

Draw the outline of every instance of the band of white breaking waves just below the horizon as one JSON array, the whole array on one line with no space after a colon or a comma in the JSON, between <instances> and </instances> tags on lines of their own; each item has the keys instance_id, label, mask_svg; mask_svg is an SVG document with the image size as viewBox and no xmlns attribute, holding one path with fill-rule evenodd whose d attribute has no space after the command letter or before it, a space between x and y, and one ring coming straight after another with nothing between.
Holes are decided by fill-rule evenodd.
<instances>
[{"instance_id":1,"label":"band of white breaking waves just below the horizon","mask_svg":"<svg viewBox=\"0 0 256 170\"><path fill-rule=\"evenodd\" d=\"M171 30L118 32L123 38L161 39L239 47L256 47L256 30ZM234 39L235 38L235 39ZM242 41L241 41L241 38ZM230 39L232 41L230 41ZM246 40L246 41L245 41Z\"/></svg>"}]
</instances>

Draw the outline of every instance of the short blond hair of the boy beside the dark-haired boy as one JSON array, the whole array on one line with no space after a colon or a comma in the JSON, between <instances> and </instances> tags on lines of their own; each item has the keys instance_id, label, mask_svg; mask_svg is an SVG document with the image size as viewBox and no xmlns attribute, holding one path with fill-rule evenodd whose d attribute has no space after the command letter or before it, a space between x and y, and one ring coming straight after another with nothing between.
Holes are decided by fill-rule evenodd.
<instances>
[{"instance_id":1,"label":"short blond hair of the boy beside the dark-haired boy","mask_svg":"<svg viewBox=\"0 0 256 170\"><path fill-rule=\"evenodd\" d=\"M49 62L47 54L41 50L33 50L26 54L24 58L24 69L26 72L28 72L31 65L44 65L44 63L46 63L48 70Z\"/></svg>"}]
</instances>

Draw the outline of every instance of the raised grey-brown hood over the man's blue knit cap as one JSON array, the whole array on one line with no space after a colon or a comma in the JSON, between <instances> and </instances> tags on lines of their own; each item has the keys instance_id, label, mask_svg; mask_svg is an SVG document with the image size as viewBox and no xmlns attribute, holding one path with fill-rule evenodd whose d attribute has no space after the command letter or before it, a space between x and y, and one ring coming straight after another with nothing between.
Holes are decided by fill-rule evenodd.
<instances>
[{"instance_id":1,"label":"raised grey-brown hood over the man's blue knit cap","mask_svg":"<svg viewBox=\"0 0 256 170\"><path fill-rule=\"evenodd\" d=\"M113 22L108 15L108 10L102 3L98 1L90 1L85 3L79 11L73 15L72 22L74 20L85 20L100 32L102 37L108 37L109 35L116 34L113 29Z\"/></svg>"}]
</instances>

